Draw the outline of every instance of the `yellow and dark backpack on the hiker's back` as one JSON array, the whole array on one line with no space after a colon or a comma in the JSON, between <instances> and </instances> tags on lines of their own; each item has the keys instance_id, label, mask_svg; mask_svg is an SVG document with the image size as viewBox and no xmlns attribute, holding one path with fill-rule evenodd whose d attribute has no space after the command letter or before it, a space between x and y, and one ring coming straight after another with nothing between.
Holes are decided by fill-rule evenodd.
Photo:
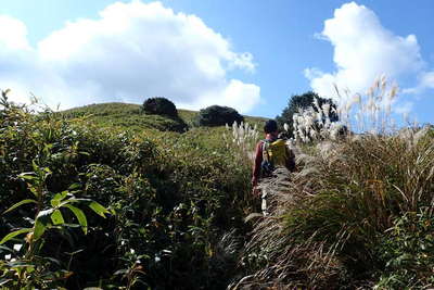
<instances>
[{"instance_id":1,"label":"yellow and dark backpack on the hiker's back","mask_svg":"<svg viewBox=\"0 0 434 290\"><path fill-rule=\"evenodd\" d=\"M288 157L285 140L263 140L263 163L260 164L263 176L271 176L276 166L285 166Z\"/></svg>"}]
</instances>

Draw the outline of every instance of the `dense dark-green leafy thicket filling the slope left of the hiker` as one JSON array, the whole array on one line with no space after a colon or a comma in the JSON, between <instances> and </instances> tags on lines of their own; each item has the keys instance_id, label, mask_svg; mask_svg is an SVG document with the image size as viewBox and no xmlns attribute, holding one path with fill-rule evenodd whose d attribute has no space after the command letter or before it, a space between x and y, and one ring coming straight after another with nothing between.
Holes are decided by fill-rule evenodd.
<instances>
[{"instance_id":1,"label":"dense dark-green leafy thicket filling the slope left of the hiker","mask_svg":"<svg viewBox=\"0 0 434 290\"><path fill-rule=\"evenodd\" d=\"M220 240L247 230L250 166L231 157L224 128L133 133L7 100L0 114L2 282L221 289L235 274L237 249Z\"/></svg>"}]
</instances>

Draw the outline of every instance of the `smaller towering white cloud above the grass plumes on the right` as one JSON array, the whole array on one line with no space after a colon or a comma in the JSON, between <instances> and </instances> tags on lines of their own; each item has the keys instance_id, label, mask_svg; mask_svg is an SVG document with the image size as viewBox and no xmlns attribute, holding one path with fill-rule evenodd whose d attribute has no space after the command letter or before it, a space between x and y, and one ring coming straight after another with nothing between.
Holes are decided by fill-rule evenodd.
<instances>
[{"instance_id":1,"label":"smaller towering white cloud above the grass plumes on the right","mask_svg":"<svg viewBox=\"0 0 434 290\"><path fill-rule=\"evenodd\" d=\"M305 76L319 94L335 97L333 84L353 92L366 92L382 74L396 79L420 72L423 61L414 35L401 37L382 26L374 12L355 2L334 11L319 36L334 48L336 71L306 68Z\"/></svg>"}]
</instances>

